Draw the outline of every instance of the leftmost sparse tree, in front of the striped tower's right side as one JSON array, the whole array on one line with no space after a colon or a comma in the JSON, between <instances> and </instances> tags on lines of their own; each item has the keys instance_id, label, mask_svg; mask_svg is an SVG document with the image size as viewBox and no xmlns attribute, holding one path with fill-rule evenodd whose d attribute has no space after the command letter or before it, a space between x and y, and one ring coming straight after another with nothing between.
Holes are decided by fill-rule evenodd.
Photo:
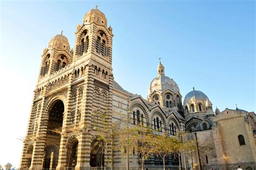
<instances>
[{"instance_id":1,"label":"leftmost sparse tree, in front of the striped tower's right side","mask_svg":"<svg viewBox=\"0 0 256 170\"><path fill-rule=\"evenodd\" d=\"M93 126L93 130L96 131L95 143L92 144L91 150L100 149L101 153L105 153L105 146L109 144L110 147L110 158L107 162L111 164L111 170L113 169L113 152L117 150L120 146L119 136L124 131L122 127L122 118L118 121L112 121L111 116L107 112L94 111L92 113L95 116L96 124Z\"/></svg>"}]
</instances>

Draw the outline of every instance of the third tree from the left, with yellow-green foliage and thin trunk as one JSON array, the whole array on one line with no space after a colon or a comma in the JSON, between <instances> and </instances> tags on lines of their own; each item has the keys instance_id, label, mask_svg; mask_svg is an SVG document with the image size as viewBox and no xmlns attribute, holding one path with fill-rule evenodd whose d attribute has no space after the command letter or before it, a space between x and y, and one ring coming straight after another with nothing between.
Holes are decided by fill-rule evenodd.
<instances>
[{"instance_id":1,"label":"third tree from the left, with yellow-green foliage and thin trunk","mask_svg":"<svg viewBox=\"0 0 256 170\"><path fill-rule=\"evenodd\" d=\"M152 140L153 153L163 159L165 169L165 159L167 155L175 152L177 139L170 138L167 134L160 134L154 136Z\"/></svg>"}]
</instances>

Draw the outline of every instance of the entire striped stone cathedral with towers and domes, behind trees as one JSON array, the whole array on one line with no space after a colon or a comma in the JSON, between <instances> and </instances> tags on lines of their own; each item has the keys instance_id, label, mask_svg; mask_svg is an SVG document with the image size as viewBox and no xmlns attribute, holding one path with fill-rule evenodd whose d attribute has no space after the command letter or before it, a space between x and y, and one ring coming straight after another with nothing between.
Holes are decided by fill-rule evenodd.
<instances>
[{"instance_id":1,"label":"entire striped stone cathedral with towers and domes, behind trees","mask_svg":"<svg viewBox=\"0 0 256 170\"><path fill-rule=\"evenodd\" d=\"M183 155L184 169L256 169L254 112L238 108L213 111L210 98L194 88L182 101L178 84L165 75L161 62L146 99L126 91L113 79L113 36L106 16L96 6L76 27L74 48L63 33L49 41L41 55L19 169L110 167L107 152L91 149L96 135L92 112L99 109L112 121L129 109L131 124L146 123L170 137L179 131L190 132L197 151L191 157ZM114 152L114 167L124 169L126 155L121 152ZM141 166L136 153L129 162L130 169ZM166 162L167 168L179 167L172 156ZM162 169L163 162L150 158L145 168Z\"/></svg>"}]
</instances>

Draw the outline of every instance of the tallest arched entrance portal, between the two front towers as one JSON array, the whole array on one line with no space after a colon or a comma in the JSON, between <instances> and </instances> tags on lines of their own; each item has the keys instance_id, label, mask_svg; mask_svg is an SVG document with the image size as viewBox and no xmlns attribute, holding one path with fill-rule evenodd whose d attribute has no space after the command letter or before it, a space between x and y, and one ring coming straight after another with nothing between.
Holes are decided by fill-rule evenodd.
<instances>
[{"instance_id":1,"label":"tallest arched entrance portal, between the two front towers","mask_svg":"<svg viewBox=\"0 0 256 170\"><path fill-rule=\"evenodd\" d=\"M49 119L45 139L43 168L56 168L58 165L60 132L63 124L64 103L56 100L49 108Z\"/></svg>"}]
</instances>

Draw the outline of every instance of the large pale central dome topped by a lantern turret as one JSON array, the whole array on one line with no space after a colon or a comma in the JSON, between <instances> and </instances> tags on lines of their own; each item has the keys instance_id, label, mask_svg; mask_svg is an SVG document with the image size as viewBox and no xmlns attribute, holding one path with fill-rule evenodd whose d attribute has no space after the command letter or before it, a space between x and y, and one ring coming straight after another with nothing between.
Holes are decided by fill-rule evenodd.
<instances>
[{"instance_id":1,"label":"large pale central dome topped by a lantern turret","mask_svg":"<svg viewBox=\"0 0 256 170\"><path fill-rule=\"evenodd\" d=\"M179 91L177 83L173 79L170 79L170 77L165 76L164 66L161 62L159 63L157 69L158 76L151 81L149 89L147 90L147 95L151 95L155 90L163 92L166 89L170 89L174 93L177 93Z\"/></svg>"}]
</instances>

